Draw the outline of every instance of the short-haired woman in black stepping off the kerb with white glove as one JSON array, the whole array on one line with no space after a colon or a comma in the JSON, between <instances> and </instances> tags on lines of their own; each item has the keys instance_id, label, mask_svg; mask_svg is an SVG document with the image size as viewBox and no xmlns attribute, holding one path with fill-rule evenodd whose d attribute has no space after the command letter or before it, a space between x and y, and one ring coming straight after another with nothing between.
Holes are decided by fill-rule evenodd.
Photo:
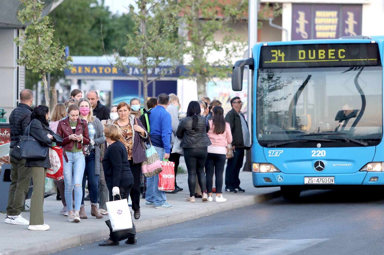
<instances>
[{"instance_id":1,"label":"short-haired woman in black stepping off the kerb with white glove","mask_svg":"<svg viewBox=\"0 0 384 255\"><path fill-rule=\"evenodd\" d=\"M103 169L105 182L109 190L109 201L126 198L128 200L129 193L133 187L133 175L129 168L127 149L120 142L122 137L121 130L114 124L108 124L104 127L104 138L109 144L104 154ZM126 244L136 244L136 229L132 222L131 236L126 240ZM123 230L126 231L126 230ZM116 239L116 232L110 230L109 239L100 243L100 246L109 246L119 244ZM127 238L127 237L126 237Z\"/></svg>"}]
</instances>

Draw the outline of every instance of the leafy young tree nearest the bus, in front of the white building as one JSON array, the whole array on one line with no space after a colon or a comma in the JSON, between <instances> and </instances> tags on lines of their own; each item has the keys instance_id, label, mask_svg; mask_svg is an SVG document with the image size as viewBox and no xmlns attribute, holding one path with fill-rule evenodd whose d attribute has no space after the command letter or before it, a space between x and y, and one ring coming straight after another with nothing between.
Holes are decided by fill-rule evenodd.
<instances>
[{"instance_id":1,"label":"leafy young tree nearest the bus, in front of the white building","mask_svg":"<svg viewBox=\"0 0 384 255\"><path fill-rule=\"evenodd\" d=\"M207 95L207 82L212 77L226 78L232 71L232 58L242 56L245 42L228 26L247 18L247 0L183 0L182 20L188 33L184 53L190 56L188 76L197 82L199 98ZM225 34L221 41L214 34ZM215 53L218 52L218 53ZM211 54L222 54L217 60ZM218 67L220 66L220 67Z\"/></svg>"}]
</instances>

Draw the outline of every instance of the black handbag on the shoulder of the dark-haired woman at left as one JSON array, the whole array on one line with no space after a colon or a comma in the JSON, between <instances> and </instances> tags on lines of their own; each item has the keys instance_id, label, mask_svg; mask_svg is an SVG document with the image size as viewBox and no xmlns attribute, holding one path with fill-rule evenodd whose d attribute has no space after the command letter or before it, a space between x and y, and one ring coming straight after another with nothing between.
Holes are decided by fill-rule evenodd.
<instances>
[{"instance_id":1,"label":"black handbag on the shoulder of the dark-haired woman at left","mask_svg":"<svg viewBox=\"0 0 384 255\"><path fill-rule=\"evenodd\" d=\"M48 155L48 147L41 145L40 141L36 140L33 136L30 136L31 124L33 121L39 121L33 119L28 125L28 136L20 136L20 157L28 160L44 160Z\"/></svg>"}]
</instances>

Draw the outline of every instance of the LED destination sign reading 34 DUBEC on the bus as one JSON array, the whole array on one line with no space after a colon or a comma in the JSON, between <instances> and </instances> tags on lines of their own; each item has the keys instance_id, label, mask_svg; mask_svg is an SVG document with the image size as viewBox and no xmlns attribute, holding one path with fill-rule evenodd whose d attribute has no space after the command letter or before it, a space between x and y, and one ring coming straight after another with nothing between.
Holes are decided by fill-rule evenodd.
<instances>
[{"instance_id":1,"label":"LED destination sign reading 34 DUBEC on the bus","mask_svg":"<svg viewBox=\"0 0 384 255\"><path fill-rule=\"evenodd\" d=\"M379 65L376 43L262 46L259 69Z\"/></svg>"}]
</instances>

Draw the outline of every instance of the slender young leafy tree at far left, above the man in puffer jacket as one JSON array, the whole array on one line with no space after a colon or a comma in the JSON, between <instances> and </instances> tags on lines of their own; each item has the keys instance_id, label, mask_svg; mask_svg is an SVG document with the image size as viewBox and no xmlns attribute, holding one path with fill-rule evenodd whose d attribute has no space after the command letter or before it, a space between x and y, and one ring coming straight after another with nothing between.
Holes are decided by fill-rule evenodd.
<instances>
[{"instance_id":1,"label":"slender young leafy tree at far left, above the man in puffer jacket","mask_svg":"<svg viewBox=\"0 0 384 255\"><path fill-rule=\"evenodd\" d=\"M41 0L21 0L24 7L18 12L18 19L23 23L29 23L25 30L20 30L20 36L15 39L17 46L21 46L19 65L39 74L43 80L45 102L50 105L47 73L56 69L64 70L68 67L71 57L64 58L64 46L59 41L53 41L53 27L47 16L41 19L44 3ZM57 98L54 98L54 101ZM57 102L56 102L57 103Z\"/></svg>"}]
</instances>

